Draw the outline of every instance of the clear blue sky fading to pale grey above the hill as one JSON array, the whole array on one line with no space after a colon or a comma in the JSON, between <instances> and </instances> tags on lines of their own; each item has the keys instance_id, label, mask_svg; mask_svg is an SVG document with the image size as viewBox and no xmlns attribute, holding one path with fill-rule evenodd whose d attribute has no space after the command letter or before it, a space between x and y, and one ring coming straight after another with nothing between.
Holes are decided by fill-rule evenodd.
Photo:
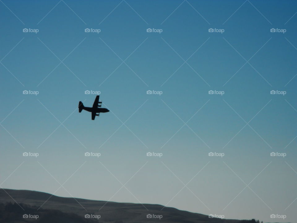
<instances>
[{"instance_id":1,"label":"clear blue sky fading to pale grey above the hill","mask_svg":"<svg viewBox=\"0 0 297 223\"><path fill-rule=\"evenodd\" d=\"M295 221L296 11L295 1L0 2L1 186ZM85 90L110 112L79 113L95 99Z\"/></svg>"}]
</instances>

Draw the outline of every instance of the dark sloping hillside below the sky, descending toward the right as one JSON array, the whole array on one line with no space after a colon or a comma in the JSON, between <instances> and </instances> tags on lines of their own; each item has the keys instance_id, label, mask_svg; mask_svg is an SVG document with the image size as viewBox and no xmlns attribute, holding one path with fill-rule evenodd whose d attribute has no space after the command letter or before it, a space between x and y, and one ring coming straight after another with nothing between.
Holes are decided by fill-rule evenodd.
<instances>
[{"instance_id":1,"label":"dark sloping hillside below the sky, descending toward the right","mask_svg":"<svg viewBox=\"0 0 297 223\"><path fill-rule=\"evenodd\" d=\"M44 205L40 208L43 203ZM170 207L165 207L161 211L164 206L158 204L144 204L148 209L146 210L142 204L137 203L105 203L106 201L58 197L32 190L0 189L0 222L256 223L254 219L209 218L208 215L181 211ZM104 207L101 208L102 206ZM38 215L39 217L37 219L23 218L24 214ZM85 218L86 214L100 215L100 218ZM148 214L162 215L162 218L147 218Z\"/></svg>"}]
</instances>

